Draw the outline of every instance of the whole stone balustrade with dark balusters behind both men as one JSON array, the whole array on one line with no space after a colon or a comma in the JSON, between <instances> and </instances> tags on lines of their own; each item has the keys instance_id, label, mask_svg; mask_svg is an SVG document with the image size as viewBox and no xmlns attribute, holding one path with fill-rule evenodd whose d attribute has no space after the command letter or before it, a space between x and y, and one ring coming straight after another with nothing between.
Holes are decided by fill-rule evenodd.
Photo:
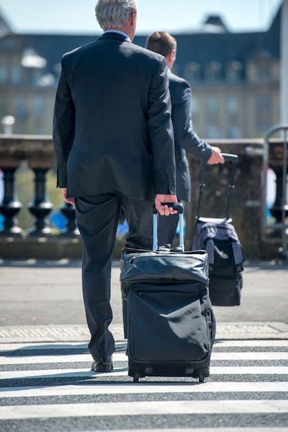
<instances>
[{"instance_id":1,"label":"whole stone balustrade with dark balusters behind both men","mask_svg":"<svg viewBox=\"0 0 288 432\"><path fill-rule=\"evenodd\" d=\"M277 141L277 140L276 140ZM232 208L233 224L247 259L272 259L276 255L278 240L265 242L261 232L261 203L263 177L263 139L208 140L225 153L238 155L236 188ZM278 142L278 141L277 141ZM189 249L194 232L198 204L201 164L188 155L191 168L192 201L185 205L185 248ZM34 172L34 198L28 210L34 217L32 226L23 235L15 219L21 212L21 197L17 197L14 177L23 161ZM52 138L37 135L0 135L0 168L3 171L4 197L0 213L4 218L0 231L0 258L61 259L81 258L82 244L76 229L74 208L63 202L59 209L67 219L66 229L54 233L47 222L52 204L46 190L46 174L54 164ZM222 217L225 213L227 195L222 187L229 181L228 164L207 167L207 186L203 216ZM220 171L219 171L220 170ZM123 239L116 242L114 255L119 257Z\"/></svg>"}]
</instances>

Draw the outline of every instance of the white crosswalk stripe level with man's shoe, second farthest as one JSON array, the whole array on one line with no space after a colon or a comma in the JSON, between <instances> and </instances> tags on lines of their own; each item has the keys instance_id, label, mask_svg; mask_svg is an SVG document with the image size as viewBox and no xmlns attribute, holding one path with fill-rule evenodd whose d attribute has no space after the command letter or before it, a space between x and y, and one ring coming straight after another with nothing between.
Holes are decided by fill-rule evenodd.
<instances>
[{"instance_id":1,"label":"white crosswalk stripe level with man's shoe, second farthest","mask_svg":"<svg viewBox=\"0 0 288 432\"><path fill-rule=\"evenodd\" d=\"M247 353L213 353L212 360L288 360L288 353L281 352L247 352ZM127 362L128 357L125 353L114 353L113 360L115 362ZM92 363L90 354L81 355L35 355L15 357L0 357L0 364L44 364L44 363L67 363L72 366L73 362L88 362Z\"/></svg>"}]
</instances>

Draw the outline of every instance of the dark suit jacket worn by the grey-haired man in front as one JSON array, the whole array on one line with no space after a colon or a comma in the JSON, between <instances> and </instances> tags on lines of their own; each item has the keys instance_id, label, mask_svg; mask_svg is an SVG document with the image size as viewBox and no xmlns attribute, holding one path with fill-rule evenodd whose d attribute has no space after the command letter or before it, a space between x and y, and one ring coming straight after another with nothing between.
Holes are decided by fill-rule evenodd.
<instances>
[{"instance_id":1,"label":"dark suit jacket worn by the grey-haired man in front","mask_svg":"<svg viewBox=\"0 0 288 432\"><path fill-rule=\"evenodd\" d=\"M54 105L57 186L67 197L175 194L165 59L108 32L62 57Z\"/></svg>"}]
</instances>

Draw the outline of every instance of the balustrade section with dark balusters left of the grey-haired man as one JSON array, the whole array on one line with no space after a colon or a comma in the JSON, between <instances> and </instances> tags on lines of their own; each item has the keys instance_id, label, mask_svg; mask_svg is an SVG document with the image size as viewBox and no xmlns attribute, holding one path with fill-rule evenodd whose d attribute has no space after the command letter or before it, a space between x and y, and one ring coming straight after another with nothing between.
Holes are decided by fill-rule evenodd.
<instances>
[{"instance_id":1,"label":"balustrade section with dark balusters left of the grey-haired man","mask_svg":"<svg viewBox=\"0 0 288 432\"><path fill-rule=\"evenodd\" d=\"M34 225L25 232L25 237L49 237L54 235L49 222L53 204L47 194L47 174L54 164L52 138L37 135L0 135L0 168L3 171L3 200L0 214L3 217L1 237L22 237L23 229L17 226L17 215L23 208L15 188L15 174L22 161L27 161L34 173L34 197L28 211ZM20 197L21 198L21 197ZM59 208L65 217L66 228L62 236L79 235L76 228L74 207L63 202Z\"/></svg>"}]
</instances>

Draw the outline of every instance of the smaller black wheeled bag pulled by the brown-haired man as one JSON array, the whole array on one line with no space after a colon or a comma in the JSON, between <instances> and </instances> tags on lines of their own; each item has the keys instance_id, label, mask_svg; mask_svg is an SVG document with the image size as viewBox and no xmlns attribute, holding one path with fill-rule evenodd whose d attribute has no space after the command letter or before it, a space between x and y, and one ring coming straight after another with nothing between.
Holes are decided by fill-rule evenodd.
<instances>
[{"instance_id":1,"label":"smaller black wheeled bag pulled by the brown-haired man","mask_svg":"<svg viewBox=\"0 0 288 432\"><path fill-rule=\"evenodd\" d=\"M224 218L200 217L205 188L206 168L203 164L191 250L205 249L208 253L209 295L212 304L214 306L238 306L243 286L242 272L245 255L230 217L238 156L223 153L223 157L225 161L230 161L232 164L226 216Z\"/></svg>"}]
</instances>

